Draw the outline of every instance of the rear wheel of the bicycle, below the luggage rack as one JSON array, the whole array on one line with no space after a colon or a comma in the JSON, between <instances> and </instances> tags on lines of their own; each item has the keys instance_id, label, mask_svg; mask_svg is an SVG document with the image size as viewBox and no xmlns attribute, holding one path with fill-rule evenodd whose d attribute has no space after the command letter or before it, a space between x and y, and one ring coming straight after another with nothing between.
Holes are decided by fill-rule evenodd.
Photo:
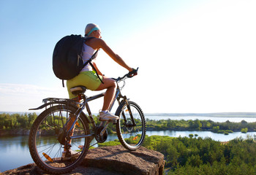
<instances>
[{"instance_id":1,"label":"rear wheel of the bicycle, below the luggage rack","mask_svg":"<svg viewBox=\"0 0 256 175\"><path fill-rule=\"evenodd\" d=\"M83 143L82 149L75 160L63 160L61 157L63 144L58 139L63 133L63 127L69 113L74 114L78 108L64 104L52 106L39 114L29 133L29 151L34 163L49 174L65 174L76 168L89 150L89 139L72 140L72 149ZM54 129L53 129L54 128ZM62 130L61 130L62 128ZM82 112L75 125L74 135L89 134L89 124L86 115ZM45 153L46 152L46 153ZM41 155L42 154L42 155Z\"/></svg>"}]
</instances>

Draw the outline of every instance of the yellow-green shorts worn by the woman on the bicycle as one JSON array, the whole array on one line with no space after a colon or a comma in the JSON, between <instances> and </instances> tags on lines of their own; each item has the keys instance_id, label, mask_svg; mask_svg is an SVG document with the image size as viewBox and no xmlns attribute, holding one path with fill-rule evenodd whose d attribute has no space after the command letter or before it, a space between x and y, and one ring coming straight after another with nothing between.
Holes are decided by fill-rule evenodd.
<instances>
[{"instance_id":1,"label":"yellow-green shorts worn by the woman on the bicycle","mask_svg":"<svg viewBox=\"0 0 256 175\"><path fill-rule=\"evenodd\" d=\"M99 75L99 77L102 79L101 75ZM95 71L82 71L80 74L78 74L78 76L67 80L67 91L69 93L69 99L76 97L70 92L70 88L83 85L89 90L97 90L99 85L102 83L100 79L97 77Z\"/></svg>"}]
</instances>

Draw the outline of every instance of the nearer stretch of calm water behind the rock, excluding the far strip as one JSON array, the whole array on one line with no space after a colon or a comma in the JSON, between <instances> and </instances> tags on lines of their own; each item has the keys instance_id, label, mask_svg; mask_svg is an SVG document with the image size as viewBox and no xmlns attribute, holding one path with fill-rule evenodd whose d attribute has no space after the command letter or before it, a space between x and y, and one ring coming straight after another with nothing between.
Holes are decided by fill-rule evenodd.
<instances>
[{"instance_id":1,"label":"nearer stretch of calm water behind the rock, excluding the far strip","mask_svg":"<svg viewBox=\"0 0 256 175\"><path fill-rule=\"evenodd\" d=\"M216 141L230 141L237 137L246 138L246 136L254 136L256 132L252 133L241 133L234 132L229 135L221 133L211 133L210 131L147 131L148 136L173 136L173 137L189 137L189 134L197 134L202 138L211 137ZM116 134L108 136L107 141L117 139ZM29 153L29 136L1 136L0 137L0 154L1 164L0 171L7 171L9 169L18 168L19 166L25 166L29 163L34 163ZM95 143L95 141L94 141ZM97 145L96 145L97 147Z\"/></svg>"}]
</instances>

